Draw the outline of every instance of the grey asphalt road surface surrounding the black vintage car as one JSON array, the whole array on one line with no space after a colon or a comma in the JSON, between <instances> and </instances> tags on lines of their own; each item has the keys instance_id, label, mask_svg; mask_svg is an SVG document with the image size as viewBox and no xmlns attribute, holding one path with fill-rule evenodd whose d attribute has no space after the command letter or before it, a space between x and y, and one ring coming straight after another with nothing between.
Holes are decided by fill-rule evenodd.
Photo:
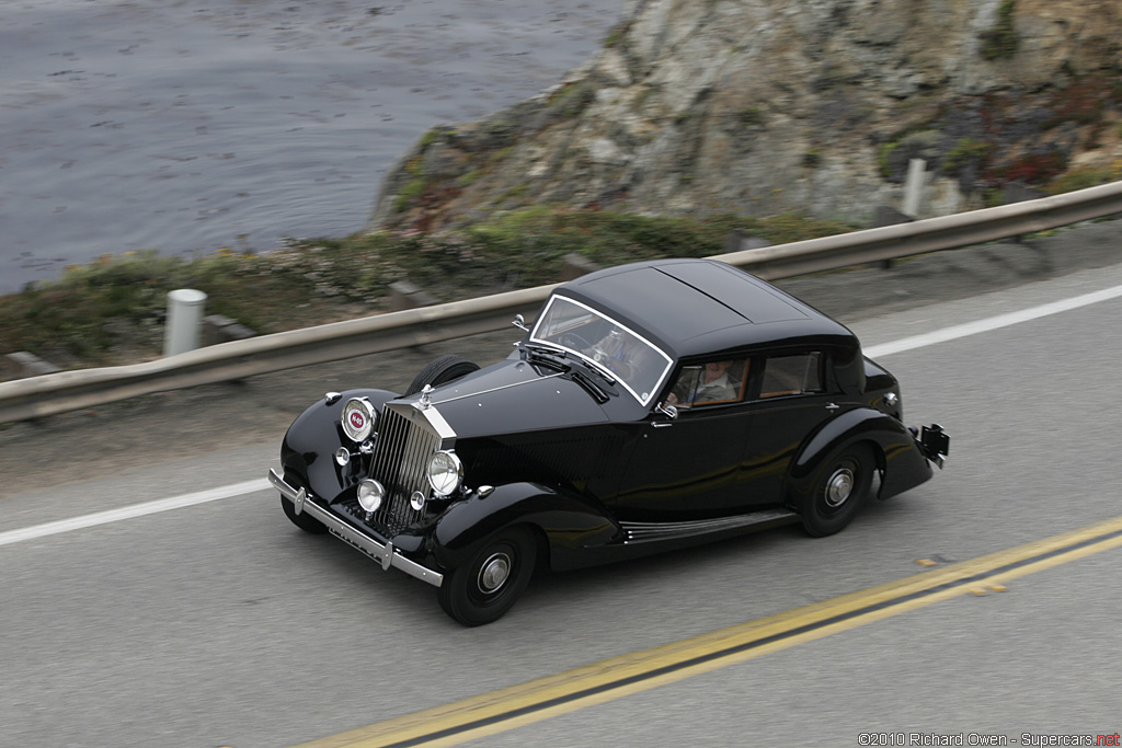
<instances>
[{"instance_id":1,"label":"grey asphalt road surface surrounding the black vintage car","mask_svg":"<svg viewBox=\"0 0 1122 748\"><path fill-rule=\"evenodd\" d=\"M1122 265L1093 265L1038 268L1036 283L1006 271L994 284L1005 288L981 295L953 268L902 268L893 278L913 274L921 288L942 278L946 301L923 304L895 293L903 281L882 281L888 296L843 320L870 348L1122 285ZM862 295L861 277L845 278L839 305ZM811 301L842 314L827 296ZM907 419L951 432L951 460L840 535L812 541L789 527L548 575L478 629L452 624L425 585L292 527L270 490L0 544L0 745L291 746L930 573L919 558L945 569L1116 517L1120 318L1115 297L883 357L903 382ZM472 354L495 355L514 335L502 338L472 343ZM407 381L408 367L442 350L397 355L389 378ZM325 375L289 378L8 430L0 541L259 479L279 441L260 432L339 387ZM1058 563L1004 592L936 601L468 745L1113 733L1120 560L1106 550Z\"/></svg>"}]
</instances>

